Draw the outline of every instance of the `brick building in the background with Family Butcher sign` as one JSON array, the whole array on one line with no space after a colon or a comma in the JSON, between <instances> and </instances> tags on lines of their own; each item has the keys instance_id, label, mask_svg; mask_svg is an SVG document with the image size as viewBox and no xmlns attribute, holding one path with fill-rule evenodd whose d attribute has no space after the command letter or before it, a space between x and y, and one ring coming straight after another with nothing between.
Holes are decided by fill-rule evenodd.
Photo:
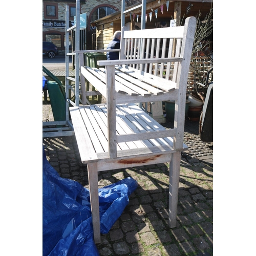
<instances>
[{"instance_id":1,"label":"brick building in the background with Family Butcher sign","mask_svg":"<svg viewBox=\"0 0 256 256\"><path fill-rule=\"evenodd\" d=\"M69 7L70 24L73 26L76 15L76 0L42 0L42 40L52 41L60 55L65 54L66 6ZM95 48L96 30L90 24L96 19L121 10L120 0L80 0L80 13L87 13L86 49ZM71 34L70 34L71 47Z\"/></svg>"}]
</instances>

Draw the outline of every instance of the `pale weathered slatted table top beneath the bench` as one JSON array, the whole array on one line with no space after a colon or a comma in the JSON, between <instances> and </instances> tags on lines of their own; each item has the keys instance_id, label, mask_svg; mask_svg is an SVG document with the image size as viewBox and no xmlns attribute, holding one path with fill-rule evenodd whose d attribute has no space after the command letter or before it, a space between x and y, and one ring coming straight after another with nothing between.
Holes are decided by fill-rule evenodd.
<instances>
[{"instance_id":1,"label":"pale weathered slatted table top beneath the bench","mask_svg":"<svg viewBox=\"0 0 256 256\"><path fill-rule=\"evenodd\" d=\"M109 158L106 105L74 106L70 108L70 114L82 162ZM174 151L172 137L143 138L148 132L157 131L159 135L166 135L166 129L136 104L116 105L116 131L117 135L140 136L140 140L136 137L129 142L117 143L117 152L121 157ZM187 148L185 144L183 147L184 150Z\"/></svg>"}]
</instances>

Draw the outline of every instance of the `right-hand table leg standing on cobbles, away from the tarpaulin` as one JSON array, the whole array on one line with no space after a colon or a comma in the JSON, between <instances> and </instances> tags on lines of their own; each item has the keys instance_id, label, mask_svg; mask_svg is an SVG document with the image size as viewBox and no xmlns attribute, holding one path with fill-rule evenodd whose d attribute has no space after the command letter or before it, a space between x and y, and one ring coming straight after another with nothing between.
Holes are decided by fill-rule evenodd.
<instances>
[{"instance_id":1,"label":"right-hand table leg standing on cobbles, away from the tarpaulin","mask_svg":"<svg viewBox=\"0 0 256 256\"><path fill-rule=\"evenodd\" d=\"M169 173L169 227L176 227L181 153L172 154Z\"/></svg>"}]
</instances>

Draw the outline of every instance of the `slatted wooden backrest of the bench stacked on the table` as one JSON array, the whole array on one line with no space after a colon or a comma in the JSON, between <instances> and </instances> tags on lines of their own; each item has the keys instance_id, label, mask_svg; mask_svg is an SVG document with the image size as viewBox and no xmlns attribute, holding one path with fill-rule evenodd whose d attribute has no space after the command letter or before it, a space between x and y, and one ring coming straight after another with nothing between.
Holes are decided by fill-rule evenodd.
<instances>
[{"instance_id":1,"label":"slatted wooden backrest of the bench stacked on the table","mask_svg":"<svg viewBox=\"0 0 256 256\"><path fill-rule=\"evenodd\" d=\"M187 33L188 20L185 26L168 27L158 29L127 30L122 27L120 59L137 58L172 58L185 57L185 39L189 39ZM191 33L190 33L191 34ZM191 35L192 36L192 35ZM194 34L193 34L194 37ZM183 40L183 38L185 38ZM183 47L182 47L183 46ZM191 52L188 52L190 60ZM133 64L130 67L172 80L176 82L178 74L178 62L166 61L165 63Z\"/></svg>"}]
</instances>

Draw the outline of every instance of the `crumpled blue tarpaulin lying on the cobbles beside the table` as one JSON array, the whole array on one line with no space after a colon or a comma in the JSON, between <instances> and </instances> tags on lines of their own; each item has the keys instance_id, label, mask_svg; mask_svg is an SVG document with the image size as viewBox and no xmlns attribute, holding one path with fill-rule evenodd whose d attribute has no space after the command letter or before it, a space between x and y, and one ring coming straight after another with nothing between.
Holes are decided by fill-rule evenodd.
<instances>
[{"instance_id":1,"label":"crumpled blue tarpaulin lying on the cobbles beside the table","mask_svg":"<svg viewBox=\"0 0 256 256\"><path fill-rule=\"evenodd\" d=\"M42 150L42 255L99 255L93 240L89 190L61 178ZM137 188L129 177L99 188L100 232L108 233Z\"/></svg>"}]
</instances>

